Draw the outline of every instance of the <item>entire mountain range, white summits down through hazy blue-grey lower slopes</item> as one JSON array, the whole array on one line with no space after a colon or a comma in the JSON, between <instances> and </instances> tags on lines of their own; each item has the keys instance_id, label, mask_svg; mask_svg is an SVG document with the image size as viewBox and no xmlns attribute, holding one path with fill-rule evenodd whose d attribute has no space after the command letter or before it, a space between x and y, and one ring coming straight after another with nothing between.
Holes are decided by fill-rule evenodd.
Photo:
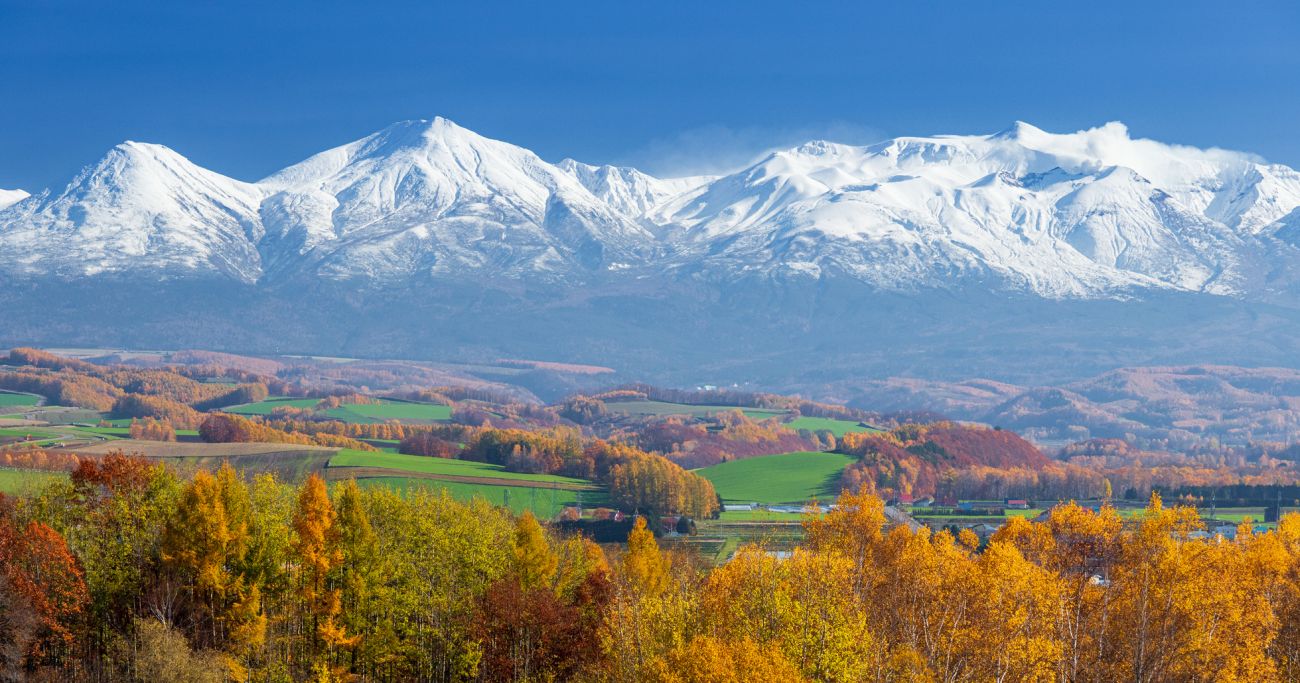
<instances>
[{"instance_id":1,"label":"entire mountain range, white summits down through hazy blue-grey lower slopes","mask_svg":"<svg viewBox=\"0 0 1300 683\"><path fill-rule=\"evenodd\" d=\"M1122 124L815 141L684 178L551 164L445 118L256 182L125 142L62 189L0 191L0 343L758 384L793 381L792 358L1010 377L1048 347L1078 354L1061 376L1126 353L1294 364L1297 245L1300 173Z\"/></svg>"}]
</instances>

